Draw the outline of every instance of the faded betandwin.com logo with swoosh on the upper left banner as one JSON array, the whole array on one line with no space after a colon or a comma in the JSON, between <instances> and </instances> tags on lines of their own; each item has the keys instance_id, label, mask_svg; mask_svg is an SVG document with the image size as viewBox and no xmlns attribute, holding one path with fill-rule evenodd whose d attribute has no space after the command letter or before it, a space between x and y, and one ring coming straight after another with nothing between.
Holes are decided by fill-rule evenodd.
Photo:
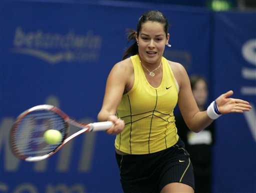
<instances>
[{"instance_id":1,"label":"faded betandwin.com logo with swoosh on the upper left banner","mask_svg":"<svg viewBox=\"0 0 256 193\"><path fill-rule=\"evenodd\" d=\"M25 31L16 27L13 52L40 58L50 64L58 62L98 61L102 38L92 30L76 34L70 29L63 33L42 29Z\"/></svg>"}]
</instances>

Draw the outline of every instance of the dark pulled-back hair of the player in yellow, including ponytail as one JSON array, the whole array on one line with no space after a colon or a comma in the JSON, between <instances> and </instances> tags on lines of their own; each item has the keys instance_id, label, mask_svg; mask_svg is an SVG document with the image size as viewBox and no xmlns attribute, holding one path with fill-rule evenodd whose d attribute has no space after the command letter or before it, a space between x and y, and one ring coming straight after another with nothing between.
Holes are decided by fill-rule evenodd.
<instances>
[{"instance_id":1,"label":"dark pulled-back hair of the player in yellow, including ponytail","mask_svg":"<svg viewBox=\"0 0 256 193\"><path fill-rule=\"evenodd\" d=\"M158 10L149 10L144 12L141 17L138 19L138 23L137 23L137 31L135 31L134 29L127 29L127 38L128 41L133 40L133 44L128 47L125 52L123 53L122 59L125 59L126 57L128 57L129 55L135 55L138 53L138 46L137 46L137 42L136 42L136 38L135 38L135 34L137 32L137 35L139 34L140 30L141 30L141 25L147 21L156 21L159 23L163 23L164 24L164 32L166 34L168 34L168 20L167 18L163 15L162 12L158 11Z\"/></svg>"}]
</instances>

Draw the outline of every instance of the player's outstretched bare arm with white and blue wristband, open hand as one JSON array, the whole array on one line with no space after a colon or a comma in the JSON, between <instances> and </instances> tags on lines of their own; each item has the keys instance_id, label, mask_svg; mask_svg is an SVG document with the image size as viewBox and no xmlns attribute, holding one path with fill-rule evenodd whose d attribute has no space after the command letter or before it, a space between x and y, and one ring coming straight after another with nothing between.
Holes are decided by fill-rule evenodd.
<instances>
[{"instance_id":1,"label":"player's outstretched bare arm with white and blue wristband, open hand","mask_svg":"<svg viewBox=\"0 0 256 193\"><path fill-rule=\"evenodd\" d=\"M233 94L232 90L221 94L213 101L207 110L199 111L190 87L188 75L183 68L179 65L176 74L179 76L179 93L178 105L182 116L188 128L194 132L199 132L208 126L213 119L216 119L221 114L248 111L251 106L249 102L238 99L230 98Z\"/></svg>"}]
</instances>

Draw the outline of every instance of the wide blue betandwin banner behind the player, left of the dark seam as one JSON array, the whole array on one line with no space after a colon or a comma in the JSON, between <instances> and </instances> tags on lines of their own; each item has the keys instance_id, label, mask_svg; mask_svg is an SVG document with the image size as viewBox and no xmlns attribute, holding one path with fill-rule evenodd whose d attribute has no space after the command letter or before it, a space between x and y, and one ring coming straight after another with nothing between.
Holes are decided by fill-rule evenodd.
<instances>
[{"instance_id":1,"label":"wide blue betandwin banner behind the player, left of the dark seam","mask_svg":"<svg viewBox=\"0 0 256 193\"><path fill-rule=\"evenodd\" d=\"M19 113L38 104L55 105L85 123L96 121L107 75L129 45L126 28L136 29L140 15L156 7L0 4L0 192L121 192L114 136L79 135L50 158L25 162L12 155L9 132ZM161 9L171 24L166 57L207 75L209 12Z\"/></svg>"}]
</instances>

